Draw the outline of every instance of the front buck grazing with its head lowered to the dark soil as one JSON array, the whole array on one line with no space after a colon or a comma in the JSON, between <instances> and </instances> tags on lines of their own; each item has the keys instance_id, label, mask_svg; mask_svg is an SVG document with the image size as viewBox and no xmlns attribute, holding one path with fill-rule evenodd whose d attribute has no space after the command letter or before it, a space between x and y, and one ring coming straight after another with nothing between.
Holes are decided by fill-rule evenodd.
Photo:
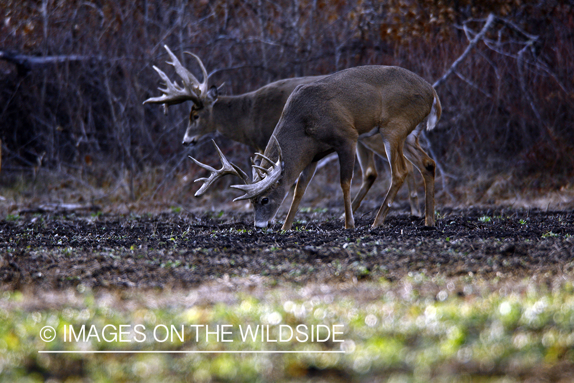
<instances>
[{"instance_id":1,"label":"front buck grazing with its head lowered to the dark soil","mask_svg":"<svg viewBox=\"0 0 574 383\"><path fill-rule=\"evenodd\" d=\"M293 202L282 230L289 230L317 161L328 153L339 156L343 190L345 228L355 226L350 187L357 141L370 136L369 149L386 153L391 168L391 185L373 222L382 225L398 189L407 175L405 156L421 172L425 184L425 225L435 225L435 161L418 144L426 126L433 129L441 105L434 88L413 72L399 67L370 65L337 72L293 91L281 115L260 164L253 165L253 181L229 163L219 151L222 169L207 165L209 179L220 174L240 176L245 185L231 187L245 192L235 200L250 199L255 210L255 227L266 227L274 219L290 185L297 179ZM380 142L382 145L376 145ZM272 160L277 158L277 160Z\"/></svg>"}]
</instances>

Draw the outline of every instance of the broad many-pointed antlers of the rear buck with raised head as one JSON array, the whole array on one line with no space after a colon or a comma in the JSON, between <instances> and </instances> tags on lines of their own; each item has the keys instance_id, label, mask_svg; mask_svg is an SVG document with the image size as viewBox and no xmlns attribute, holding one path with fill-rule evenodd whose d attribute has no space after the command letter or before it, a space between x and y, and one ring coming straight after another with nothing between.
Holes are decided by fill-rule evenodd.
<instances>
[{"instance_id":1,"label":"broad many-pointed antlers of the rear buck with raised head","mask_svg":"<svg viewBox=\"0 0 574 383\"><path fill-rule=\"evenodd\" d=\"M166 51L168 51L168 55L172 60L166 62L170 65L173 65L173 67L176 69L176 73L177 75L180 76L183 86L180 86L180 84L178 84L175 81L173 83L170 82L168 75L166 75L165 72L162 71L160 68L156 67L156 65L153 65L153 68L156 69L156 72L160 75L161 79L164 80L165 89L161 87L158 88L160 91L163 92L163 94L159 97L148 98L147 100L144 101L144 104L156 103L156 104L164 104L167 106L167 105L179 104L187 100L192 100L193 102L196 103L196 105L203 105L201 98L202 96L207 94L207 71L205 70L205 67L203 63L201 63L199 57L197 57L193 53L185 52L188 53L188 55L195 57L195 59L199 63L201 73L203 74L203 82L201 83L199 82L199 80L197 80L195 76L193 76L191 72L189 72L187 69L183 67L183 65L181 65L176 55L173 54L173 52L168 48L167 45L164 45L164 48Z\"/></svg>"}]
</instances>

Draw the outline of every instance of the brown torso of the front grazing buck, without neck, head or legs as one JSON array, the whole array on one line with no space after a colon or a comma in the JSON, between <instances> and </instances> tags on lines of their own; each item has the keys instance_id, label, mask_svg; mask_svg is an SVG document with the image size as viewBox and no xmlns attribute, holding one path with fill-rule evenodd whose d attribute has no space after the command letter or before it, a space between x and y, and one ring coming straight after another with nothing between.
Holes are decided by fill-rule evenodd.
<instances>
[{"instance_id":1,"label":"brown torso of the front grazing buck, without neck, head or legs","mask_svg":"<svg viewBox=\"0 0 574 383\"><path fill-rule=\"evenodd\" d=\"M356 139L374 128L385 129L391 121L410 129L429 114L435 95L428 82L404 68L350 68L298 87L285 106L285 118L277 125L276 134L286 130L292 136L304 133L336 142L338 138ZM294 125L302 131L297 132Z\"/></svg>"}]
</instances>

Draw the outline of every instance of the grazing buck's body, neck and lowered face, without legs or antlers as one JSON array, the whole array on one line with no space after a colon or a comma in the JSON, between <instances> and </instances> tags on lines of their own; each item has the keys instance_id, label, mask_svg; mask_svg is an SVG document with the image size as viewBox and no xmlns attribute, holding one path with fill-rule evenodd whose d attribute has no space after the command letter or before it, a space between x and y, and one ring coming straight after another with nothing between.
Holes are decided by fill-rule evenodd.
<instances>
[{"instance_id":1,"label":"grazing buck's body, neck and lowered face, without legs or antlers","mask_svg":"<svg viewBox=\"0 0 574 383\"><path fill-rule=\"evenodd\" d=\"M298 86L273 131L276 140L270 140L265 149L265 156L274 161L280 148L284 167L276 184L261 188L251 198L256 222L276 214L298 175L333 150L339 152L356 145L359 136L378 132L385 140L403 142L431 114L435 96L420 76L379 65L346 69ZM438 109L440 117L440 103ZM263 160L261 166L272 163Z\"/></svg>"}]
</instances>

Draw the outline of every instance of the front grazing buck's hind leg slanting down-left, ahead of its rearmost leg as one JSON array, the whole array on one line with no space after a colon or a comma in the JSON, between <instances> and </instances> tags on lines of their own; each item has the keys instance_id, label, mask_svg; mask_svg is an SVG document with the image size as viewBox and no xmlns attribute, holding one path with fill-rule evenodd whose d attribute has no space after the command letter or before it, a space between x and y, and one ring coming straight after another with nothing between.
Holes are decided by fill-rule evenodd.
<instances>
[{"instance_id":1,"label":"front grazing buck's hind leg slanting down-left, ahead of its rearmost leg","mask_svg":"<svg viewBox=\"0 0 574 383\"><path fill-rule=\"evenodd\" d=\"M393 204L395 196L397 195L398 189L401 188L407 175L405 156L402 153L402 142L385 141L385 149L391 169L391 185L387 195L385 196L385 200L383 200L383 204L375 217L375 221L373 222L371 229L383 224L387 214L389 214L389 210Z\"/></svg>"}]
</instances>

